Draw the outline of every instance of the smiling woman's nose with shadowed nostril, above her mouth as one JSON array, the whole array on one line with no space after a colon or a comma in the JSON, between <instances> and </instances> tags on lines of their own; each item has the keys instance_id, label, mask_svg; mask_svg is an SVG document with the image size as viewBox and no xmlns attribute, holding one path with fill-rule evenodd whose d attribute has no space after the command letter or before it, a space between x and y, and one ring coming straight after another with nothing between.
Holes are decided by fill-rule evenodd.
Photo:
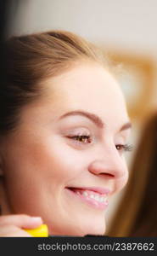
<instances>
[{"instance_id":1,"label":"smiling woman's nose with shadowed nostril, above her mouth","mask_svg":"<svg viewBox=\"0 0 157 256\"><path fill-rule=\"evenodd\" d=\"M88 171L94 175L105 176L110 178L121 178L127 174L126 161L119 154L116 148L98 154L88 166Z\"/></svg>"}]
</instances>

